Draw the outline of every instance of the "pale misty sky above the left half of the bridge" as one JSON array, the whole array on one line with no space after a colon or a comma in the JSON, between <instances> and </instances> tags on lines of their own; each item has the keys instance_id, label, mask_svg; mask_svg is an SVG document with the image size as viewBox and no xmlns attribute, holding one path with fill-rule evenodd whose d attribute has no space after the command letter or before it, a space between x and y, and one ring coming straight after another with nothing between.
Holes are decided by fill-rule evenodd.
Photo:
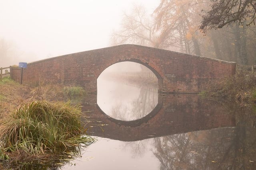
<instances>
[{"instance_id":1,"label":"pale misty sky above the left half of the bridge","mask_svg":"<svg viewBox=\"0 0 256 170\"><path fill-rule=\"evenodd\" d=\"M22 62L108 47L134 3L152 13L159 0L0 0L0 39L30 54Z\"/></svg>"}]
</instances>

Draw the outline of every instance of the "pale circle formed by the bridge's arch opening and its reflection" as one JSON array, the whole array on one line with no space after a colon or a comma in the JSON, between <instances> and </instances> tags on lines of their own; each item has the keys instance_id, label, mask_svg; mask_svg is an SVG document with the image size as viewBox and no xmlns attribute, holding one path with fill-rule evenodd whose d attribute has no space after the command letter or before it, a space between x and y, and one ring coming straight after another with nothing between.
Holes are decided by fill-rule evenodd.
<instances>
[{"instance_id":1,"label":"pale circle formed by the bridge's arch opening and its reflection","mask_svg":"<svg viewBox=\"0 0 256 170\"><path fill-rule=\"evenodd\" d=\"M118 61L98 76L97 104L106 115L120 121L134 121L146 117L158 105L158 84L162 82L162 78L148 64L141 63ZM117 102L113 102L115 100ZM129 103L130 101L132 102ZM145 106L140 104L148 106L142 111ZM132 117L133 112L140 112L140 115Z\"/></svg>"}]
</instances>

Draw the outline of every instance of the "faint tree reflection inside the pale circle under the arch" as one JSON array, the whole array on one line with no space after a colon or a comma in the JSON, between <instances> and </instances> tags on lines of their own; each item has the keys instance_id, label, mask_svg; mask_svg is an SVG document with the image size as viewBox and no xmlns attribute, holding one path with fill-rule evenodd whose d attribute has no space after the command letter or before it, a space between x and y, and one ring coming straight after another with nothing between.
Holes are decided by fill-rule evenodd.
<instances>
[{"instance_id":1,"label":"faint tree reflection inside the pale circle under the arch","mask_svg":"<svg viewBox=\"0 0 256 170\"><path fill-rule=\"evenodd\" d=\"M117 104L112 108L112 117L115 119L130 121L145 117L150 113L158 103L157 88L152 86L144 86L140 88L138 98L130 103L130 106L125 104Z\"/></svg>"}]
</instances>

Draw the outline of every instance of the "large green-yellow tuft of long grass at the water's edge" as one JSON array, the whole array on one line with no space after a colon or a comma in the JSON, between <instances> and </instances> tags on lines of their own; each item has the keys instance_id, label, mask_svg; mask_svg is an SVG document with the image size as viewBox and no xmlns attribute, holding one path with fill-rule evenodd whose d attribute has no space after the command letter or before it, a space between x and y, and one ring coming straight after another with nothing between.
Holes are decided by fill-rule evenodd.
<instances>
[{"instance_id":1,"label":"large green-yellow tuft of long grass at the water's edge","mask_svg":"<svg viewBox=\"0 0 256 170\"><path fill-rule=\"evenodd\" d=\"M80 122L80 106L34 101L21 106L0 125L2 152L62 153L94 142Z\"/></svg>"}]
</instances>

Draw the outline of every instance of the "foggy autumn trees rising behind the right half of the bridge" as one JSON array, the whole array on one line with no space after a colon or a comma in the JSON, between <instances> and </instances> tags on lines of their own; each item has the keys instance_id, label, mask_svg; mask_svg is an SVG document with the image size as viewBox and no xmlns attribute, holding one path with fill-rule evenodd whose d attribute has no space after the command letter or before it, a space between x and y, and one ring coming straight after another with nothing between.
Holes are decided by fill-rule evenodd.
<instances>
[{"instance_id":1,"label":"foggy autumn trees rising behind the right half of the bridge","mask_svg":"<svg viewBox=\"0 0 256 170\"><path fill-rule=\"evenodd\" d=\"M220 9L221 4L226 8ZM112 43L256 64L255 7L255 0L161 0L148 15L142 6L134 6L131 14L124 14L121 29L112 34Z\"/></svg>"}]
</instances>

